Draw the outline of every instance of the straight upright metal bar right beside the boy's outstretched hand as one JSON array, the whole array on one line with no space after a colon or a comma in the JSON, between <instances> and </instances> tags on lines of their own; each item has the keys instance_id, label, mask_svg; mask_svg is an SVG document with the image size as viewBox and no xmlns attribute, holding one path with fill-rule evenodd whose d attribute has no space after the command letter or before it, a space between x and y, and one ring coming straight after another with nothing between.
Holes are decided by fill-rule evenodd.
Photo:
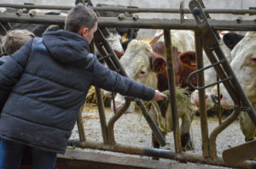
<instances>
[{"instance_id":1,"label":"straight upright metal bar right beside the boy's outstretched hand","mask_svg":"<svg viewBox=\"0 0 256 169\"><path fill-rule=\"evenodd\" d=\"M172 38L170 30L164 30L165 45L166 45L166 61L167 61L167 74L168 74L168 87L170 91L169 99L171 100L172 110L172 130L175 144L175 152L182 151L181 138L179 134L178 114L177 114L177 99L175 80L173 72L173 57L172 57ZM167 112L169 113L169 112ZM171 121L170 121L171 122Z\"/></svg>"}]
</instances>

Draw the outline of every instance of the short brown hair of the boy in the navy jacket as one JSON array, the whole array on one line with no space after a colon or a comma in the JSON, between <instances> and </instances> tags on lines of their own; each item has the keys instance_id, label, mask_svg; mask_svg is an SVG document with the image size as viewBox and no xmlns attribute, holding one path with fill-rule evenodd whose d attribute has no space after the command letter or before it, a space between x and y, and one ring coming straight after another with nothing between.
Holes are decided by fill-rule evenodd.
<instances>
[{"instance_id":1,"label":"short brown hair of the boy in the navy jacket","mask_svg":"<svg viewBox=\"0 0 256 169\"><path fill-rule=\"evenodd\" d=\"M87 27L89 30L96 24L96 13L82 3L72 8L65 20L65 30L78 33L81 27Z\"/></svg>"}]
</instances>

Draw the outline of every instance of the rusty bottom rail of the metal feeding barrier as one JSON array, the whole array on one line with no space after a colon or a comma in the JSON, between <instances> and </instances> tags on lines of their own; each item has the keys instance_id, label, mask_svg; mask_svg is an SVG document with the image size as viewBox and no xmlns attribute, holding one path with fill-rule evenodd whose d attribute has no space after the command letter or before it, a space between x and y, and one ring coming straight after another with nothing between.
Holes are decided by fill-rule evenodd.
<instances>
[{"instance_id":1,"label":"rusty bottom rail of the metal feeding barrier","mask_svg":"<svg viewBox=\"0 0 256 169\"><path fill-rule=\"evenodd\" d=\"M244 161L240 164L230 165L225 163L223 159L217 157L212 160L210 158L205 158L202 155L195 155L192 153L179 153L173 152L167 149L153 149L153 148L142 148L136 146L127 146L124 144L114 144L106 145L96 141L86 141L85 143L80 143L79 140L69 140L68 145L77 146L84 149L99 149L106 151L113 151L118 153L125 153L131 155L147 155L156 158L164 158L170 160L176 160L181 162L194 162L194 163L202 163L214 166L226 166L232 168L242 168L242 169L253 169L256 167L256 163L254 161Z\"/></svg>"}]
</instances>

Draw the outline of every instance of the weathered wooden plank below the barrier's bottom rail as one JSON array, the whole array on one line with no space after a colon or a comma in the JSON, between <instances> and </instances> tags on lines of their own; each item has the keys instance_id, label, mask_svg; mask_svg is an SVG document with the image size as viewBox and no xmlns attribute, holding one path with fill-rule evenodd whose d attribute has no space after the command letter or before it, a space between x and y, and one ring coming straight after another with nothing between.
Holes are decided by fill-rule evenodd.
<instances>
[{"instance_id":1,"label":"weathered wooden plank below the barrier's bottom rail","mask_svg":"<svg viewBox=\"0 0 256 169\"><path fill-rule=\"evenodd\" d=\"M58 155L56 169L170 169L170 163L135 157L106 155L78 150L67 150Z\"/></svg>"}]
</instances>

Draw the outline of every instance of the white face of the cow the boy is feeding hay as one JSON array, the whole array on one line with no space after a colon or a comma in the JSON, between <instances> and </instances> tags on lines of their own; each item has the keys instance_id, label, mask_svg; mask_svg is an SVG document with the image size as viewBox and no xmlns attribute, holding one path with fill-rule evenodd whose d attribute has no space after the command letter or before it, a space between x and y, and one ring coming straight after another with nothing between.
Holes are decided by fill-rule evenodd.
<instances>
[{"instance_id":1,"label":"white face of the cow the boy is feeding hay","mask_svg":"<svg viewBox=\"0 0 256 169\"><path fill-rule=\"evenodd\" d=\"M147 42L132 40L120 59L120 63L131 80L157 88L156 73L151 70L150 66L151 54L152 48ZM120 104L125 103L125 98L119 93L114 100L117 108ZM132 104L132 106L129 108L129 112L134 111L134 105Z\"/></svg>"}]
</instances>

